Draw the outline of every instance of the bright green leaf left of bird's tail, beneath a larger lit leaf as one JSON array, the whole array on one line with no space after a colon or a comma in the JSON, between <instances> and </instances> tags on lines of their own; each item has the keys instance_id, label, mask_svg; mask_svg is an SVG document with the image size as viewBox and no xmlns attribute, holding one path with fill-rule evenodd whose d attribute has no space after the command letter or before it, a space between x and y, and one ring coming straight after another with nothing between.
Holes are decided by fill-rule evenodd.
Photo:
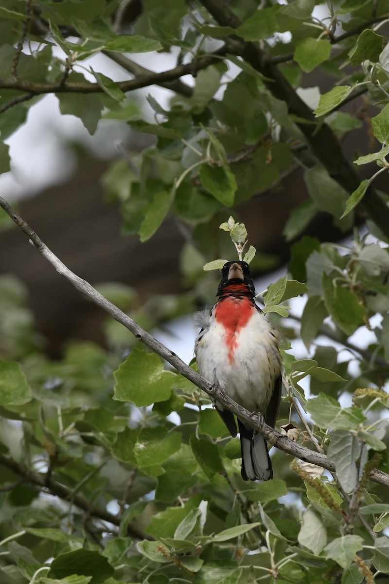
<instances>
[{"instance_id":1,"label":"bright green leaf left of bird's tail, beneath a larger lit leaf","mask_svg":"<svg viewBox=\"0 0 389 584\"><path fill-rule=\"evenodd\" d=\"M139 432L134 453L139 466L144 468L162 464L180 447L180 432L169 432L163 426L156 426Z\"/></svg>"}]
</instances>

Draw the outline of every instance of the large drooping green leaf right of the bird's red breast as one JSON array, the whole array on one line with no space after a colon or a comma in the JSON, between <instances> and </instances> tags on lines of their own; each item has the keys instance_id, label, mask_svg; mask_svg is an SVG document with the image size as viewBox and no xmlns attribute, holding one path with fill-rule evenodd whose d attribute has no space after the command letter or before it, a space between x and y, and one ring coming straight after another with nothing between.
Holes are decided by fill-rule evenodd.
<instances>
[{"instance_id":1,"label":"large drooping green leaf right of the bird's red breast","mask_svg":"<svg viewBox=\"0 0 389 584\"><path fill-rule=\"evenodd\" d=\"M366 308L348 288L334 286L331 276L323 273L321 283L328 314L346 335L352 335L363 325Z\"/></svg>"}]
</instances>

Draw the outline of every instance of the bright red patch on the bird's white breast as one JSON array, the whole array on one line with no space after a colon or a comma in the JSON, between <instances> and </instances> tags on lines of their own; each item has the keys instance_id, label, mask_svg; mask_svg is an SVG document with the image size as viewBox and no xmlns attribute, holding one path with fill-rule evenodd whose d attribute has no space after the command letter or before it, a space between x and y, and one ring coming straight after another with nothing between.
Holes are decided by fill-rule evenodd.
<instances>
[{"instance_id":1,"label":"bright red patch on the bird's white breast","mask_svg":"<svg viewBox=\"0 0 389 584\"><path fill-rule=\"evenodd\" d=\"M249 298L227 296L216 305L215 318L226 331L225 342L229 349L230 363L233 361L234 351L237 347L237 336L241 329L247 325L253 311L255 311L255 307Z\"/></svg>"}]
</instances>

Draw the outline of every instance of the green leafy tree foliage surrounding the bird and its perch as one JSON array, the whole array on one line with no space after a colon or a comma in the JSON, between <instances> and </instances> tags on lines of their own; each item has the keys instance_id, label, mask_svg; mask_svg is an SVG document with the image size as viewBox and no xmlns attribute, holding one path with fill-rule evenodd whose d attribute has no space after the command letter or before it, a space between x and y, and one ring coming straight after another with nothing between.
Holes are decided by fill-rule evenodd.
<instances>
[{"instance_id":1,"label":"green leafy tree foliage surrounding the bird and its perch","mask_svg":"<svg viewBox=\"0 0 389 584\"><path fill-rule=\"evenodd\" d=\"M209 262L232 256L226 231L240 253L247 237L228 219L230 208L303 166L310 198L285 225L295 240L289 279L271 284L264 302L292 344L298 334L307 349L301 358L283 353L280 426L322 463L277 450L273 481L243 482L239 441L206 407L208 395L165 367L161 353L110 321L108 349L75 342L50 361L26 290L2 276L1 582L372 583L389 573L389 210L374 190L388 168L389 2L150 0L131 33L127 4L2 1L1 140L47 93L90 133L100 119L115 119L155 136L104 178L126 234L146 241L169 214L188 235L181 253L189 293L158 297L148 311L133 290L100 287L145 329L212 303L218 276ZM176 67L156 74L128 56L149 53L152 64L155 51L176 54ZM92 57L101 53L121 65L122 81L97 70ZM311 71L330 79L320 96L302 91ZM150 120L131 91L152 85L173 93L167 109L150 93ZM361 95L379 107L367 120L376 141L351 161L341 142L362 121L342 107ZM362 180L359 168L372 162L379 168ZM1 142L0 171L8 169ZM320 211L345 232L365 217L375 239L355 231L344 246L301 237ZM264 265L245 252L254 267ZM305 293L292 328L283 303Z\"/></svg>"}]
</instances>

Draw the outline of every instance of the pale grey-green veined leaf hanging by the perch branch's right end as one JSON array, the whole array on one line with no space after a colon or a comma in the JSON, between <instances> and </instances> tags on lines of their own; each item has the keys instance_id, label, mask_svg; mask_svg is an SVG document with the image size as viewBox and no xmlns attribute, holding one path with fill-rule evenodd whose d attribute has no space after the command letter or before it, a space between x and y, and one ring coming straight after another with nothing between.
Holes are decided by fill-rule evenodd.
<instances>
[{"instance_id":1,"label":"pale grey-green veined leaf hanging by the perch branch's right end","mask_svg":"<svg viewBox=\"0 0 389 584\"><path fill-rule=\"evenodd\" d=\"M358 437L346 430L335 430L330 434L330 446L327 451L328 458L332 458L337 470L337 476L346 493L351 493L358 485L358 477L363 472L366 461L361 458L361 444ZM357 466L358 464L358 466Z\"/></svg>"}]
</instances>

